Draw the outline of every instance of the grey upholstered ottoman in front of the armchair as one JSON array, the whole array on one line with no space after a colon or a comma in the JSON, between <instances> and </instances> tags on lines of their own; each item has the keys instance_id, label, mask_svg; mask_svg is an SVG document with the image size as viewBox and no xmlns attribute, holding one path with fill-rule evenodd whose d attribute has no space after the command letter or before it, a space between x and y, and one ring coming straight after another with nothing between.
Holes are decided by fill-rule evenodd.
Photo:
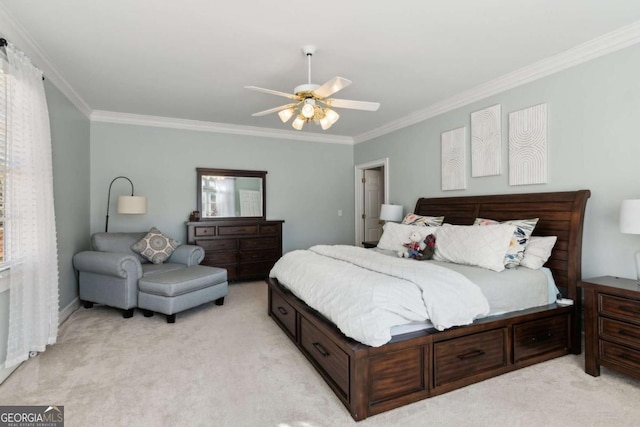
<instances>
[{"instance_id":1,"label":"grey upholstered ottoman in front of the armchair","mask_svg":"<svg viewBox=\"0 0 640 427\"><path fill-rule=\"evenodd\" d=\"M181 311L214 300L216 305L224 304L227 291L227 270L193 265L140 279L138 307L145 317L163 313L167 323L174 323Z\"/></svg>"}]
</instances>

